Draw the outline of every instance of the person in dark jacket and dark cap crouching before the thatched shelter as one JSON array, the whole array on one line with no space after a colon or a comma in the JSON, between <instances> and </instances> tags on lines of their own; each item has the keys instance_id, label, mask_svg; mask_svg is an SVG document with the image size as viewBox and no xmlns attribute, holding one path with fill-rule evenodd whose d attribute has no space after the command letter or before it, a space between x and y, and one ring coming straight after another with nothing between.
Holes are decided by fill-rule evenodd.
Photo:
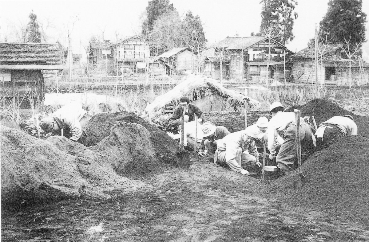
<instances>
[{"instance_id":1,"label":"person in dark jacket and dark cap crouching before the thatched shelter","mask_svg":"<svg viewBox=\"0 0 369 242\"><path fill-rule=\"evenodd\" d=\"M188 106L187 106L188 105ZM191 122L195 120L195 115L197 118L201 117L201 110L193 104L190 104L190 99L188 97L182 97L179 99L179 105L173 111L173 115L169 118L170 126L178 127L182 123L182 113L183 108L187 106L186 113L184 115L184 122Z\"/></svg>"}]
</instances>

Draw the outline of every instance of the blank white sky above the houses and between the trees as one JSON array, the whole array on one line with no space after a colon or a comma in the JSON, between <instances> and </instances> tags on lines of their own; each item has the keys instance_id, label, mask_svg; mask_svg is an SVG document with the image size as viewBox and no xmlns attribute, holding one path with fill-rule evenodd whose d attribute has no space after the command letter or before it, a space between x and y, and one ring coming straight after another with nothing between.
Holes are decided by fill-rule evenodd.
<instances>
[{"instance_id":1,"label":"blank white sky above the houses and between the trees","mask_svg":"<svg viewBox=\"0 0 369 242\"><path fill-rule=\"evenodd\" d=\"M227 36L250 36L258 32L261 23L260 0L170 0L180 15L191 10L203 22L205 36L210 43ZM286 46L299 51L314 37L314 24L327 12L328 0L298 0L295 11L299 14L293 26L295 38ZM8 36L11 41L16 29L26 25L31 10L44 23L48 42L57 39L67 45L67 32L71 31L73 53L83 51L92 35L116 40L141 32L140 16L145 12L148 0L0 0L0 41ZM369 0L363 0L363 11L369 15ZM78 20L77 20L78 19ZM369 19L369 17L368 17ZM73 22L75 22L72 29ZM366 24L369 39L369 24Z\"/></svg>"}]
</instances>

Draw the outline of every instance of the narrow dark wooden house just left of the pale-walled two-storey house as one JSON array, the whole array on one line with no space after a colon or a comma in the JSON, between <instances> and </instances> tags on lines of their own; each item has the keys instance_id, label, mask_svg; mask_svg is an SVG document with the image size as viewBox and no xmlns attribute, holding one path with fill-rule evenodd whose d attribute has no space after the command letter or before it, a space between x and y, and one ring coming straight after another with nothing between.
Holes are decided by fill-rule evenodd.
<instances>
[{"instance_id":1,"label":"narrow dark wooden house just left of the pale-walled two-storey house","mask_svg":"<svg viewBox=\"0 0 369 242\"><path fill-rule=\"evenodd\" d=\"M90 42L88 68L91 74L113 75L116 70L113 43L110 41Z\"/></svg>"}]
</instances>

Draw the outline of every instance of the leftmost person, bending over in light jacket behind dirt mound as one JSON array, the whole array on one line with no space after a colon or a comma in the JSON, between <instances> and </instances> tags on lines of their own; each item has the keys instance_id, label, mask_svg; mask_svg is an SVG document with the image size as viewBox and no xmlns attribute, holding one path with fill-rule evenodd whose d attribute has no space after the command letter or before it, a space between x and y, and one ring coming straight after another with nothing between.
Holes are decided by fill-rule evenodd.
<instances>
[{"instance_id":1,"label":"leftmost person, bending over in light jacket behind dirt mound","mask_svg":"<svg viewBox=\"0 0 369 242\"><path fill-rule=\"evenodd\" d=\"M46 133L61 135L70 140L85 145L86 131L83 129L91 119L91 116L82 108L81 104L73 103L62 106L50 117L41 119L40 127Z\"/></svg>"}]
</instances>

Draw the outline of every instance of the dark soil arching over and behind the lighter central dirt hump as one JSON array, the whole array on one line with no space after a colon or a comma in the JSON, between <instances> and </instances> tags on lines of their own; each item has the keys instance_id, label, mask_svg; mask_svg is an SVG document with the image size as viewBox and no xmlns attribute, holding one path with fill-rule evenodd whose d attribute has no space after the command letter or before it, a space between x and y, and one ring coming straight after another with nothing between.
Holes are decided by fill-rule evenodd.
<instances>
[{"instance_id":1,"label":"dark soil arching over and behind the lighter central dirt hump","mask_svg":"<svg viewBox=\"0 0 369 242\"><path fill-rule=\"evenodd\" d=\"M180 151L179 144L158 127L149 124L135 113L115 112L100 113L90 120L86 127L87 146L96 145L110 134L110 128L117 122L138 123L144 126L148 132L152 145L154 146L156 159L170 164L177 164L178 157L175 155ZM132 137L134 139L134 137ZM127 142L131 142L127 140ZM134 142L134 141L133 141Z\"/></svg>"}]
</instances>

